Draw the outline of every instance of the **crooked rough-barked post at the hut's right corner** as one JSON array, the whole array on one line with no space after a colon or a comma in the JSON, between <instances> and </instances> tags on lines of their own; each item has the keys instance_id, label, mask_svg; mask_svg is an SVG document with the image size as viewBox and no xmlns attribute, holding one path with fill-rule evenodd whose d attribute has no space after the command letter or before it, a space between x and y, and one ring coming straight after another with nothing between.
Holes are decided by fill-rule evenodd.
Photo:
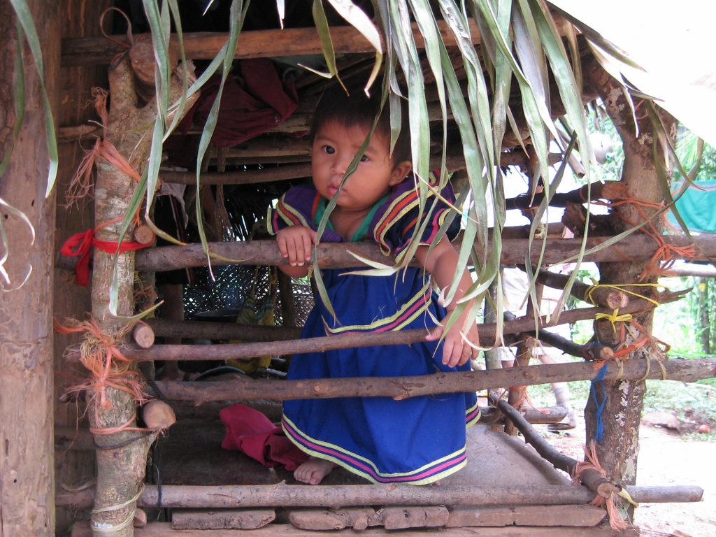
<instances>
[{"instance_id":1,"label":"crooked rough-barked post at the hut's right corner","mask_svg":"<svg viewBox=\"0 0 716 537\"><path fill-rule=\"evenodd\" d=\"M596 61L586 68L586 78L594 85L606 106L606 111L614 122L617 132L624 142L624 169L621 181L634 198L661 202L663 200L662 190L659 188L657 171L654 164L654 128L648 115L644 110L645 103L637 103L642 107L637 110L639 119L639 136L634 130L634 120L631 109L624 96L621 86L609 76L604 69L601 69ZM674 137L676 122L664 112L660 112L667 133ZM661 153L659 151L659 153ZM659 154L659 158L663 156ZM663 162L663 160L662 160ZM670 167L667 166L667 169ZM670 172L667 172L670 173ZM669 176L670 178L670 176ZM633 205L621 205L614 211L619 212L625 218L640 223L642 219ZM654 213L653 209L646 209L647 216ZM629 224L621 220L615 220L618 231L623 231ZM654 222L658 226L658 221ZM646 266L647 261L633 260L619 263L601 263L599 266L600 281L602 284L632 284L639 281L639 275ZM652 278L648 281L656 281ZM629 288L627 288L629 289ZM644 288L632 288L638 294L645 294ZM644 329L652 329L652 310L644 314L635 314ZM612 333L611 326L608 332L601 331L601 323L596 321L597 333ZM609 324L607 322L607 324ZM611 344L612 342L605 342ZM616 344L617 342L613 342ZM639 350L629 355L630 358L644 357L644 351ZM595 393L596 391L596 393ZM602 468L606 470L606 477L616 480L625 485L633 485L637 479L637 453L639 452L639 421L642 415L645 384L642 381L611 380L604 382L604 392L598 384L592 384L589 403L587 404L586 430L588 442L596 437L597 420L596 405L594 397L601 401L606 398L606 406L602 414L604 423L604 440L596 445L596 453Z\"/></svg>"}]
</instances>

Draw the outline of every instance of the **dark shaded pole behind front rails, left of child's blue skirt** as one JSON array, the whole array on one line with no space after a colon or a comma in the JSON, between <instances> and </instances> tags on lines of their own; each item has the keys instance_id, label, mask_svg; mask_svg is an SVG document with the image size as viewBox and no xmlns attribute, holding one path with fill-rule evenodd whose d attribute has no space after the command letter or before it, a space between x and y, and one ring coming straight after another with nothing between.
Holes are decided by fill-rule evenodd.
<instances>
[{"instance_id":1,"label":"dark shaded pole behind front rails, left of child's blue skirt","mask_svg":"<svg viewBox=\"0 0 716 537\"><path fill-rule=\"evenodd\" d=\"M155 336L183 337L186 339L243 339L249 342L279 342L299 339L301 329L293 326L257 326L211 321L172 321L146 319ZM260 356L268 356L260 354Z\"/></svg>"}]
</instances>

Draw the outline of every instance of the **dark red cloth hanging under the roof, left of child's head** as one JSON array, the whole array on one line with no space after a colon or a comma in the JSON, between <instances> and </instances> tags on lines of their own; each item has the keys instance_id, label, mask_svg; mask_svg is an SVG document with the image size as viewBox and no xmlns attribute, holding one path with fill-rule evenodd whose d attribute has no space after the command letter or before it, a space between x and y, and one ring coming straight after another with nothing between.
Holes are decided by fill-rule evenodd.
<instances>
[{"instance_id":1,"label":"dark red cloth hanging under the roof, left of child's head","mask_svg":"<svg viewBox=\"0 0 716 537\"><path fill-rule=\"evenodd\" d=\"M221 106L211 142L217 147L240 144L286 121L299 105L294 81L281 82L270 59L242 59L238 77L229 76L221 94ZM201 88L201 95L178 125L186 134L194 124L205 125L218 95L221 76L214 75Z\"/></svg>"}]
</instances>

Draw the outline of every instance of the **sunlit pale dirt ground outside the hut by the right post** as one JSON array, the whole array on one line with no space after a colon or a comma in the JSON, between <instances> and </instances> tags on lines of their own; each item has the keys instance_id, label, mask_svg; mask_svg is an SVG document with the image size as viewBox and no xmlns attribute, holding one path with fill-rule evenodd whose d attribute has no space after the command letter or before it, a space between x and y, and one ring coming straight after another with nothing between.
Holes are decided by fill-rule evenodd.
<instances>
[{"instance_id":1,"label":"sunlit pale dirt ground outside the hut by the right post","mask_svg":"<svg viewBox=\"0 0 716 537\"><path fill-rule=\"evenodd\" d=\"M575 412L577 428L556 434L541 427L558 450L584 459L584 414ZM639 430L637 485L699 485L699 503L643 503L635 523L644 536L669 536L673 531L690 537L716 537L716 443L682 440L677 432L643 425ZM677 533L679 535L679 533Z\"/></svg>"}]
</instances>

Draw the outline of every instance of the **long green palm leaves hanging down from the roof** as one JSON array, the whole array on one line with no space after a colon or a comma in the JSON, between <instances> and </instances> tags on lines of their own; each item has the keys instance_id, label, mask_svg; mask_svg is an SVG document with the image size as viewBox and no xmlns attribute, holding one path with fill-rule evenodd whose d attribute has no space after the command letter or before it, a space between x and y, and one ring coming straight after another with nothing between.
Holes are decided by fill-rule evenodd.
<instances>
[{"instance_id":1,"label":"long green palm leaves hanging down from the roof","mask_svg":"<svg viewBox=\"0 0 716 537\"><path fill-rule=\"evenodd\" d=\"M548 178L548 147L553 137L558 137L558 129L551 117L551 95L548 81L553 77L558 88L559 97L566 109L566 124L574 130L574 145L579 152L582 163L590 162L589 138L586 136L586 117L580 101L581 67L579 51L576 47L576 34L579 30L586 38L599 47L605 54L623 56L622 52L609 44L599 34L579 21L562 20L563 34L569 46L569 55L557 32L557 25L548 5L543 0L374 0L376 21L351 0L328 0L329 4L349 24L352 24L368 40L375 49L375 62L369 78L367 91L382 68L384 76L382 102L390 107L391 141L395 143L397 133L401 129L410 130L412 140L413 169L417 177L417 191L420 194L420 213L426 208L430 190L427 186L431 147L430 117L428 114L425 92L423 61L427 61L431 83L435 84L440 114L442 115L442 164L445 170L447 150L448 117L452 117L457 125L462 150L465 157L465 170L468 178L470 205L465 208L467 224L464 230L463 246L459 253L458 267L455 271L455 282L465 269L475 266L477 277L461 302L467 303L480 299L498 275L500 264L500 232L505 221L503 195L503 176L500 170L500 156L503 151L503 138L508 126L523 147L531 146L531 153L536 159L536 170L532 184L543 183L546 195L539 212L546 211L553 193L553 186ZM226 44L211 62L205 72L190 87L186 77L187 69L183 69L183 93L177 102L168 101L170 77L175 66L170 64L170 27L176 29L182 65L185 66L181 24L178 17L178 4L170 0L161 4L157 0L143 0L147 21L153 37L153 47L157 64L155 77L158 115L152 127L152 148L147 170L137 184L132 209L139 208L142 200L146 200L145 218L155 233L160 231L150 220L149 207L155 193L159 166L162 158L162 144L175 127L177 118L183 112L185 100L197 92L201 85L220 67L223 68L221 85L214 101L208 120L200 137L198 149L197 186L200 185L200 168L209 142L213 135L218 117L219 103L223 83L226 82L231 69L233 54L236 50L238 34L248 9L248 2L234 0L231 5L230 31ZM19 15L26 12L22 0L13 0ZM23 7L25 6L25 7ZM284 19L284 1L276 1L276 9L281 21ZM436 10L437 9L437 10ZM26 17L20 17L27 32ZM321 37L326 64L329 74L338 76L337 63L329 26L324 13L322 0L314 1L314 19L316 29ZM32 19L30 19L32 21ZM577 29L571 26L575 23ZM283 23L281 23L283 24ZM475 32L480 29L480 35ZM461 73L467 80L466 95L464 84L455 70L455 53L448 49L445 40L457 45L459 59L463 67ZM481 49L475 47L475 41L482 44ZM31 40L32 45L32 40ZM34 49L33 53L35 52ZM420 52L423 51L423 52ZM39 52L39 51L38 51ZM383 62L383 57L386 61ZM36 64L42 66L35 58ZM570 61L571 60L571 61ZM405 80L407 95L401 95L399 79ZM520 104L513 99L511 90L513 81L520 97ZM408 125L401 125L400 114L396 113L400 99L407 97ZM52 116L48 117L51 120ZM517 118L523 118L524 124L518 124ZM49 121L49 125L52 121ZM54 134L48 129L48 144L54 145ZM147 130L147 135L149 131ZM54 155L52 150L50 155ZM357 155L346 177L352 173L360 158ZM589 166L585 166L589 180ZM51 166L52 170L56 165ZM444 184L448 174L440 175ZM345 178L344 178L345 180ZM52 177L49 188L52 186ZM552 188L551 188L552 187ZM494 200L492 208L488 200ZM200 205L197 208L200 211ZM321 222L321 230L326 225L332 210L329 205ZM488 245L488 211L491 211L495 222L492 247ZM203 231L203 219L198 215L200 241L203 244L207 260L216 257L209 250ZM123 228L127 229L130 215ZM427 225L425 218L418 221L415 233L421 233ZM538 221L534 221L531 236ZM172 241L170 237L166 237ZM412 241L398 259L400 266L406 266L415 255L417 241ZM542 245L543 248L543 245ZM582 248L581 256L584 254ZM228 260L224 260L228 261ZM529 267L529 259L526 260ZM318 288L321 294L325 289L318 277ZM451 288L456 288L453 285ZM569 292L569 288L566 289ZM116 289L112 289L112 294ZM445 300L453 300L454 293L449 293ZM113 301L116 303L116 300ZM475 301L478 304L479 300ZM463 304L464 305L464 304ZM473 306L475 309L478 306ZM460 310L460 308L458 308ZM498 319L501 315L498 314Z\"/></svg>"}]
</instances>

